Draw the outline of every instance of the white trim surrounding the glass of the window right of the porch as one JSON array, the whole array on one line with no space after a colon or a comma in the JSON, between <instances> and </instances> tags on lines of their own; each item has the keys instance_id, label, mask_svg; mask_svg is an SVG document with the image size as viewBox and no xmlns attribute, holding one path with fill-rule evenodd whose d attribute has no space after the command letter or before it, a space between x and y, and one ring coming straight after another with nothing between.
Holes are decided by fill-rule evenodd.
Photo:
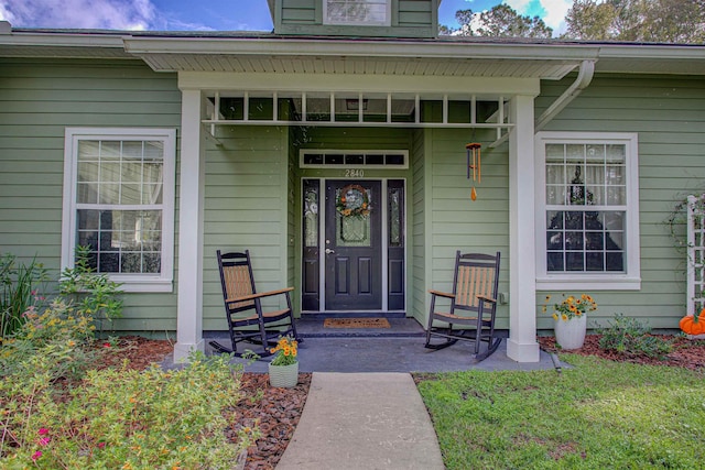
<instances>
[{"instance_id":1,"label":"white trim surrounding the glass of the window right of the porch","mask_svg":"<svg viewBox=\"0 0 705 470\"><path fill-rule=\"evenodd\" d=\"M546 143L614 143L627 151L626 273L546 272ZM536 288L541 291L638 291L641 288L639 242L639 149L637 133L618 132L538 132L534 139L536 186Z\"/></svg>"}]
</instances>

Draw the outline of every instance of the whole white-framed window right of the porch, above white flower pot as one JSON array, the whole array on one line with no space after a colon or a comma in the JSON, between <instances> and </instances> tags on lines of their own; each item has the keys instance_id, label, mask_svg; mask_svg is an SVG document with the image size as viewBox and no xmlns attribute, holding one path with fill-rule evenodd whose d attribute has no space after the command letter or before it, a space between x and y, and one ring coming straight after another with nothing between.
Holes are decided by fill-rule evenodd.
<instances>
[{"instance_id":1,"label":"whole white-framed window right of the porch, above white flower pot","mask_svg":"<svg viewBox=\"0 0 705 470\"><path fill-rule=\"evenodd\" d=\"M535 156L539 287L639 288L637 135L540 132Z\"/></svg>"}]
</instances>

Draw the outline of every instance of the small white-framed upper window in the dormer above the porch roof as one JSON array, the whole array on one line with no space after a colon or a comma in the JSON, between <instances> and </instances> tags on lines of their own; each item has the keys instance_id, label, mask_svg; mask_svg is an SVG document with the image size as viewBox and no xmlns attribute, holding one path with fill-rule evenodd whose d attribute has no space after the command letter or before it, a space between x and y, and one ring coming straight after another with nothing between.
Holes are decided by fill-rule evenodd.
<instances>
[{"instance_id":1,"label":"small white-framed upper window in the dormer above the porch roof","mask_svg":"<svg viewBox=\"0 0 705 470\"><path fill-rule=\"evenodd\" d=\"M389 26L391 0L323 0L324 24Z\"/></svg>"}]
</instances>

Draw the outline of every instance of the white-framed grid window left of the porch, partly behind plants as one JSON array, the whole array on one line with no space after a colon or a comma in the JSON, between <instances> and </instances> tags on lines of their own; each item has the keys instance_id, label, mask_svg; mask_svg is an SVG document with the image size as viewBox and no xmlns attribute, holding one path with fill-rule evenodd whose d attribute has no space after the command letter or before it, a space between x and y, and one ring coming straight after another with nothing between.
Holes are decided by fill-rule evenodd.
<instances>
[{"instance_id":1,"label":"white-framed grid window left of the porch, partly behind plants","mask_svg":"<svg viewBox=\"0 0 705 470\"><path fill-rule=\"evenodd\" d=\"M66 129L63 266L86 245L126 292L172 289L175 146L173 129Z\"/></svg>"}]
</instances>

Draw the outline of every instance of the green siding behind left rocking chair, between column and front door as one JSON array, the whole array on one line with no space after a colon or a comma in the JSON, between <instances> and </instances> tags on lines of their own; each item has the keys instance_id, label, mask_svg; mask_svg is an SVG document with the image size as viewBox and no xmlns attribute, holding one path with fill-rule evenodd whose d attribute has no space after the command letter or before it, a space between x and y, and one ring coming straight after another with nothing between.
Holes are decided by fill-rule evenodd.
<instances>
[{"instance_id":1,"label":"green siding behind left rocking chair, between column and front door","mask_svg":"<svg viewBox=\"0 0 705 470\"><path fill-rule=\"evenodd\" d=\"M221 146L207 149L204 330L227 329L217 250L250 250L259 292L288 284L288 135L286 128L230 127L218 133Z\"/></svg>"}]
</instances>

